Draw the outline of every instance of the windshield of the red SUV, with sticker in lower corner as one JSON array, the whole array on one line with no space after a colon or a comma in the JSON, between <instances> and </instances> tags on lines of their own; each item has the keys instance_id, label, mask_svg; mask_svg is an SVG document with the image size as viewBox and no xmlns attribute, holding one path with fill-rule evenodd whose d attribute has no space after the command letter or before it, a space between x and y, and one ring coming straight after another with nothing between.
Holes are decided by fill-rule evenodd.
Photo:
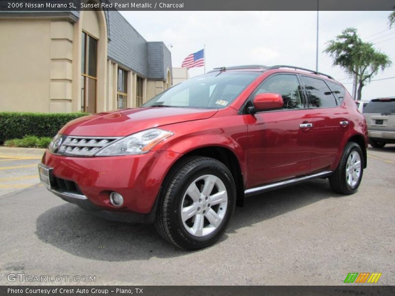
<instances>
[{"instance_id":1,"label":"windshield of the red SUV, with sticker in lower corner","mask_svg":"<svg viewBox=\"0 0 395 296\"><path fill-rule=\"evenodd\" d=\"M260 72L213 72L193 77L152 98L142 107L222 109L231 104Z\"/></svg>"}]
</instances>

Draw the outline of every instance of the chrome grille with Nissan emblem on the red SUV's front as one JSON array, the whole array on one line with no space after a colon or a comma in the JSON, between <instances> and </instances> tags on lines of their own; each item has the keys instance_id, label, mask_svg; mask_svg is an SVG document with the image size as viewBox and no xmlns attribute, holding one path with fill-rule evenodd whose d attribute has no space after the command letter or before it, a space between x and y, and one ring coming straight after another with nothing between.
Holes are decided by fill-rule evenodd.
<instances>
[{"instance_id":1,"label":"chrome grille with Nissan emblem on the red SUV's front","mask_svg":"<svg viewBox=\"0 0 395 296\"><path fill-rule=\"evenodd\" d=\"M122 137L63 136L55 153L59 155L93 156L101 148L120 138Z\"/></svg>"}]
</instances>

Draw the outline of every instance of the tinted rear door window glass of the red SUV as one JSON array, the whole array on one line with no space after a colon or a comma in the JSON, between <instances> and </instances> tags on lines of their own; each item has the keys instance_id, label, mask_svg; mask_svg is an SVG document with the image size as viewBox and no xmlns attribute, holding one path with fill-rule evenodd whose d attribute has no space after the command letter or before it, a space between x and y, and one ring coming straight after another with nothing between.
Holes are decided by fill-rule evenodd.
<instances>
[{"instance_id":1,"label":"tinted rear door window glass of the red SUV","mask_svg":"<svg viewBox=\"0 0 395 296\"><path fill-rule=\"evenodd\" d=\"M305 84L311 107L330 108L336 106L335 97L323 80L302 76L302 82Z\"/></svg>"}]
</instances>

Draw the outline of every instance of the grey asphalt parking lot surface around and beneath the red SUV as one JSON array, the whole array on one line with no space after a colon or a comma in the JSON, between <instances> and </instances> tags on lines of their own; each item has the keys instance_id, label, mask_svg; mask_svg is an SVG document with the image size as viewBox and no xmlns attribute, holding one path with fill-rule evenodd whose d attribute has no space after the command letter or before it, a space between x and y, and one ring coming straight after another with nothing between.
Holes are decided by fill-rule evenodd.
<instances>
[{"instance_id":1,"label":"grey asphalt parking lot surface around and beneath the red SUV","mask_svg":"<svg viewBox=\"0 0 395 296\"><path fill-rule=\"evenodd\" d=\"M9 282L10 273L96 276L61 284L342 285L349 272L380 272L377 284L395 285L395 145L368 155L356 194L319 179L248 198L224 237L196 252L173 248L152 225L64 202L25 178L38 159L0 158L0 285L31 284Z\"/></svg>"}]
</instances>

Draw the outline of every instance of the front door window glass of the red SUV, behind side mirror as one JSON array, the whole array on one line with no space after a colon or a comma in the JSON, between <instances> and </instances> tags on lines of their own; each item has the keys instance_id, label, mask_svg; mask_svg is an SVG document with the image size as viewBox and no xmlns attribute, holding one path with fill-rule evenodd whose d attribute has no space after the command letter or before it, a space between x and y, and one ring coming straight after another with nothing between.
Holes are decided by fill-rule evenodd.
<instances>
[{"instance_id":1,"label":"front door window glass of the red SUV, behind side mirror","mask_svg":"<svg viewBox=\"0 0 395 296\"><path fill-rule=\"evenodd\" d=\"M282 96L283 109L303 108L301 88L296 75L279 74L271 76L259 86L255 94L276 93Z\"/></svg>"}]
</instances>

